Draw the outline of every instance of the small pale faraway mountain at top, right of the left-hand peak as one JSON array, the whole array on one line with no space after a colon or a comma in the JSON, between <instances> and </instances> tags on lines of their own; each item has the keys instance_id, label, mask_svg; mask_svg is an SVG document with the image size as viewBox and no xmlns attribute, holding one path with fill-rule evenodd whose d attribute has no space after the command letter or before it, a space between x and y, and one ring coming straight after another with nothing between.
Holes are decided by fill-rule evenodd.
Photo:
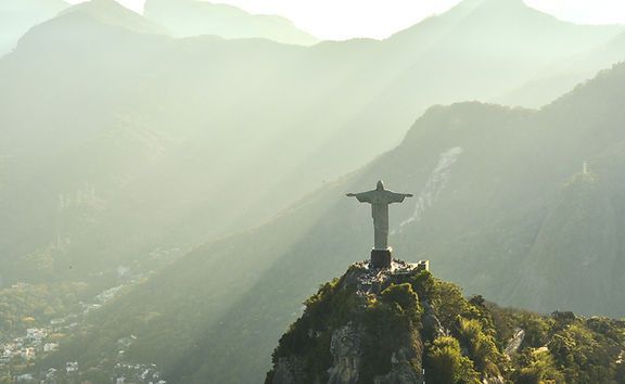
<instances>
[{"instance_id":1,"label":"small pale faraway mountain at top, right of the left-hand peak","mask_svg":"<svg viewBox=\"0 0 625 384\"><path fill-rule=\"evenodd\" d=\"M177 37L214 35L227 39L265 38L310 46L317 39L280 16L254 15L232 5L199 0L148 0L144 15Z\"/></svg>"}]
</instances>

